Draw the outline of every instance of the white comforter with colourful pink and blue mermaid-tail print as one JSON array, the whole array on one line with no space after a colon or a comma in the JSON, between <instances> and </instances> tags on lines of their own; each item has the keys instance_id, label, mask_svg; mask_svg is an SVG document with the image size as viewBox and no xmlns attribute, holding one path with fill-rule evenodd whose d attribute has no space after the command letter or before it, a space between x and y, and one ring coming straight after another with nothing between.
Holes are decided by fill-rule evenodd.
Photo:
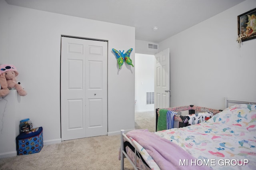
<instances>
[{"instance_id":1,"label":"white comforter with colourful pink and blue mermaid-tail print","mask_svg":"<svg viewBox=\"0 0 256 170\"><path fill-rule=\"evenodd\" d=\"M208 121L155 134L178 144L196 158L180 160L180 166L208 165L214 170L255 170L256 105L234 105ZM143 158L150 168L159 169L157 164L161 162L155 162L140 144L136 147L143 151Z\"/></svg>"}]
</instances>

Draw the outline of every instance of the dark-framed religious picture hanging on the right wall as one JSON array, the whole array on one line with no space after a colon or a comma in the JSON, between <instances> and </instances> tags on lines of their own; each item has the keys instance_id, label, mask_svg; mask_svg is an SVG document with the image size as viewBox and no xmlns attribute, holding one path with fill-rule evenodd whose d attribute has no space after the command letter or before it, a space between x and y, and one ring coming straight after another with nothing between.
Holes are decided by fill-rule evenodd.
<instances>
[{"instance_id":1,"label":"dark-framed religious picture hanging on the right wall","mask_svg":"<svg viewBox=\"0 0 256 170\"><path fill-rule=\"evenodd\" d=\"M241 35L242 41L256 38L256 8L239 15L237 19L238 36Z\"/></svg>"}]
</instances>

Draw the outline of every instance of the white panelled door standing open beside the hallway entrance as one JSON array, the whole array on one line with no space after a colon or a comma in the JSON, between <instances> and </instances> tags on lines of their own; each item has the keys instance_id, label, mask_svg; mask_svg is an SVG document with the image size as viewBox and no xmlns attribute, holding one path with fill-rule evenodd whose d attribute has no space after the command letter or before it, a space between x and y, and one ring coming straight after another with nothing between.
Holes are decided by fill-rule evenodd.
<instances>
[{"instance_id":1,"label":"white panelled door standing open beside the hallway entrance","mask_svg":"<svg viewBox=\"0 0 256 170\"><path fill-rule=\"evenodd\" d=\"M170 49L155 55L154 104L156 108L170 107Z\"/></svg>"}]
</instances>

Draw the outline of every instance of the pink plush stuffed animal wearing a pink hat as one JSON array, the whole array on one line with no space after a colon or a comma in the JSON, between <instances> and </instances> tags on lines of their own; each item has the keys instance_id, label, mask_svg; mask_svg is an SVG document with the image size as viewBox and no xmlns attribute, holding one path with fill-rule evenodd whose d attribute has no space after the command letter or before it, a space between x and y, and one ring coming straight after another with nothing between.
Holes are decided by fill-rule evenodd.
<instances>
[{"instance_id":1,"label":"pink plush stuffed animal wearing a pink hat","mask_svg":"<svg viewBox=\"0 0 256 170\"><path fill-rule=\"evenodd\" d=\"M20 96L26 96L27 92L16 81L16 76L19 74L16 67L11 64L0 65L0 73L4 74L8 89L16 89Z\"/></svg>"}]
</instances>

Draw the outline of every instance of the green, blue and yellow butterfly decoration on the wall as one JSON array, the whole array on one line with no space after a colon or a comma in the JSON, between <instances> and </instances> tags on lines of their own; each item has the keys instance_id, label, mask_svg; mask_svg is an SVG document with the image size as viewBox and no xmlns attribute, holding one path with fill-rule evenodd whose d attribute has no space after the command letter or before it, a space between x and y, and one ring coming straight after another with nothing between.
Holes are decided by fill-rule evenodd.
<instances>
[{"instance_id":1,"label":"green, blue and yellow butterfly decoration on the wall","mask_svg":"<svg viewBox=\"0 0 256 170\"><path fill-rule=\"evenodd\" d=\"M130 48L130 49L128 49L128 51L126 51L126 53L124 53L124 50L121 52L120 50L117 51L116 49L112 48L112 51L114 51L114 53L116 54L119 69L123 65L124 61L127 64L132 65L132 67L134 67L134 65L132 64L132 59L130 59L130 54L131 54L132 50L133 49Z\"/></svg>"}]
</instances>

